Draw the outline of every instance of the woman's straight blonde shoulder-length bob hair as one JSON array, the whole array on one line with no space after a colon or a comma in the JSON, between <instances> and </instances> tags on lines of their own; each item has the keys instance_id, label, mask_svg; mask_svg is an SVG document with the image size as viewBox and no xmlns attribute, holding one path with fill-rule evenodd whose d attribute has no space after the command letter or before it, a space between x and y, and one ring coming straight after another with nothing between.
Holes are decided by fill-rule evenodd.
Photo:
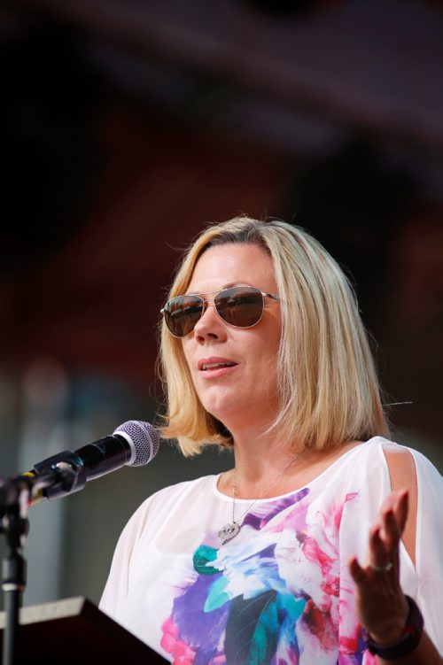
<instances>
[{"instance_id":1,"label":"woman's straight blonde shoulder-length bob hair","mask_svg":"<svg viewBox=\"0 0 443 665\"><path fill-rule=\"evenodd\" d=\"M253 243L270 255L281 298L276 359L280 414L269 431L293 450L323 449L388 432L354 290L330 254L302 228L246 216L206 228L190 246L168 298L186 293L198 258L214 245ZM167 396L162 434L185 456L233 445L198 399L182 340L161 324L160 378Z\"/></svg>"}]
</instances>

